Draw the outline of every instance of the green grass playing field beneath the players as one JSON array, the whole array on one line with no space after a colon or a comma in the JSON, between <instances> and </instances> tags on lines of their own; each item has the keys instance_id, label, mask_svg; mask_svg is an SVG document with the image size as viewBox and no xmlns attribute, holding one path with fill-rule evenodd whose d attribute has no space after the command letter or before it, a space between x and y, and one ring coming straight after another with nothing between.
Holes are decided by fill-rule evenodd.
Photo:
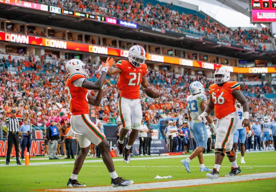
<instances>
[{"instance_id":1,"label":"green grass playing field beneath the players","mask_svg":"<svg viewBox=\"0 0 276 192\"><path fill-rule=\"evenodd\" d=\"M136 158L136 157L135 157ZM116 172L119 176L131 179L135 183L172 181L192 178L205 178L206 172L199 171L199 163L194 159L190 163L191 173L187 173L180 163L187 155L174 158L148 159L139 157L139 160L131 160L125 164L123 160L115 161ZM0 158L4 159L4 158ZM1 181L5 185L0 186L0 191L33 191L35 189L58 189L65 188L68 178L71 175L73 163L66 164L69 160L35 160L30 163L39 162L64 162L64 164L55 165L36 165L36 166L1 166ZM118 158L114 158L118 159ZM141 160L140 160L141 159ZM92 162L85 162L78 176L78 181L87 185L87 187L110 185L110 175L103 162L96 162L99 159L87 158ZM240 164L240 154L237 162L241 167L241 174L276 172L276 152L257 152L245 154L246 164ZM12 161L10 165L16 163ZM24 164L24 161L22 161ZM204 157L204 163L208 168L213 168L214 155ZM5 164L4 161L0 165ZM220 168L220 176L226 175L230 171L230 163L227 158L224 159ZM156 175L168 176L170 179L154 179ZM275 191L276 179L266 179L259 181L246 181L227 184L215 184L196 187L185 187L175 189L162 189L156 191L214 191L214 187L219 191Z\"/></svg>"}]
</instances>

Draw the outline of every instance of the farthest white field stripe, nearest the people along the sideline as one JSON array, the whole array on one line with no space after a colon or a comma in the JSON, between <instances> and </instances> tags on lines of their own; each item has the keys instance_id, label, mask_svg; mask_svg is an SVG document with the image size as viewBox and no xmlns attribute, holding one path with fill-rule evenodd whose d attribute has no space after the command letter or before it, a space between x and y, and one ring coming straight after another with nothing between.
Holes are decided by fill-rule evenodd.
<instances>
[{"instance_id":1,"label":"farthest white field stripe, nearest the people along the sideline","mask_svg":"<svg viewBox=\"0 0 276 192\"><path fill-rule=\"evenodd\" d=\"M250 153L265 153L265 152L270 152L270 151L250 151ZM214 153L207 153L207 154L203 154L203 156L214 156ZM173 156L150 156L150 157L142 157L142 158L131 158L131 161L139 161L139 160L154 160L154 159L170 159L170 158L187 158L189 157L189 155L173 155ZM33 159L35 160L35 159ZM124 161L123 158L116 158L116 159L112 159L113 162L116 161ZM103 162L102 159L99 160L85 160L84 163L99 163L99 162ZM73 161L53 161L53 160L49 160L49 162L37 162L37 163L30 163L30 166L32 165L57 165L57 164L74 164L75 160ZM24 165L24 163L22 164ZM22 166L20 165L20 166ZM18 166L17 164L9 164L8 166ZM0 167L8 167L5 164L0 164Z\"/></svg>"}]
</instances>

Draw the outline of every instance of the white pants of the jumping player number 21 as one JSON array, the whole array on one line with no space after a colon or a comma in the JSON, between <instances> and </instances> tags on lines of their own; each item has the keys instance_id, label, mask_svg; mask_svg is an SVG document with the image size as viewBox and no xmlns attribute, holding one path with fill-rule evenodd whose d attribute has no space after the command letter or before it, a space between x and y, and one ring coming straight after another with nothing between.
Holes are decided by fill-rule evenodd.
<instances>
[{"instance_id":1,"label":"white pants of the jumping player number 21","mask_svg":"<svg viewBox=\"0 0 276 192\"><path fill-rule=\"evenodd\" d=\"M122 126L139 130L143 118L140 99L120 97L118 104Z\"/></svg>"}]
</instances>

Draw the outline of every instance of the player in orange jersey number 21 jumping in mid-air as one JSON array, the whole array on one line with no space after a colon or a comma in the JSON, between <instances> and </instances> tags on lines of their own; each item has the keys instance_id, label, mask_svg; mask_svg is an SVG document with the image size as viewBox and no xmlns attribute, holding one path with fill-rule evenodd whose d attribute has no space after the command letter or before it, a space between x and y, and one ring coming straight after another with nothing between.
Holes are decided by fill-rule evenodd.
<instances>
[{"instance_id":1,"label":"player in orange jersey number 21 jumping in mid-air","mask_svg":"<svg viewBox=\"0 0 276 192\"><path fill-rule=\"evenodd\" d=\"M144 88L150 87L150 84L144 77L148 71L145 59L145 49L140 45L134 45L129 49L128 61L118 61L115 67L110 68L107 72L110 75L119 74L117 85L121 94L118 107L123 128L117 141L116 153L121 157L124 150L125 163L129 163L130 161L130 148L137 138L143 118L141 101L139 99L140 84ZM130 128L132 128L132 131L129 135L129 141L124 146L124 137Z\"/></svg>"}]
</instances>

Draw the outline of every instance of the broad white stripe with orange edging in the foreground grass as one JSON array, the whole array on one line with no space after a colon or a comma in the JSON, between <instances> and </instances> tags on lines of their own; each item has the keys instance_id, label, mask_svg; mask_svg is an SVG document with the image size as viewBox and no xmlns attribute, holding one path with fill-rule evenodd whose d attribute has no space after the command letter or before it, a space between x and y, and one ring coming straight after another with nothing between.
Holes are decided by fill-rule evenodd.
<instances>
[{"instance_id":1,"label":"broad white stripe with orange edging in the foreground grass","mask_svg":"<svg viewBox=\"0 0 276 192\"><path fill-rule=\"evenodd\" d=\"M218 183L233 183L239 181L250 181L257 179L275 178L276 172L270 173L257 173L257 174L245 174L237 175L234 177L220 177L218 179L187 179L178 181L163 181L152 183L137 183L127 187L111 187L111 186L98 186L98 187L82 187L82 188L68 188L68 189L48 189L46 191L136 191L136 190L154 190L154 189L166 189L176 187L189 187L197 185L208 185ZM179 190L180 191L180 190Z\"/></svg>"}]
</instances>

